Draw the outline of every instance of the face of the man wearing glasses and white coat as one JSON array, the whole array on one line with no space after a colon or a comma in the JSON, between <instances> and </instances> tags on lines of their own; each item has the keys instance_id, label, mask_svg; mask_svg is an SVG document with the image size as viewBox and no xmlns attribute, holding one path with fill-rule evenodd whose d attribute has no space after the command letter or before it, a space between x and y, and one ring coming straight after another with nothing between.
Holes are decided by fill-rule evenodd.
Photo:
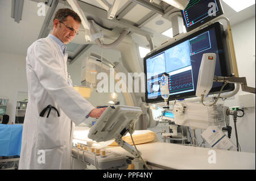
<instances>
[{"instance_id":1,"label":"face of the man wearing glasses and white coat","mask_svg":"<svg viewBox=\"0 0 256 181\"><path fill-rule=\"evenodd\" d=\"M79 31L80 23L76 22L71 16L68 16L63 22L55 19L54 26L56 26L57 38L59 38L64 44L68 44L74 39L76 32ZM73 28L76 32L71 31L69 27Z\"/></svg>"}]
</instances>

